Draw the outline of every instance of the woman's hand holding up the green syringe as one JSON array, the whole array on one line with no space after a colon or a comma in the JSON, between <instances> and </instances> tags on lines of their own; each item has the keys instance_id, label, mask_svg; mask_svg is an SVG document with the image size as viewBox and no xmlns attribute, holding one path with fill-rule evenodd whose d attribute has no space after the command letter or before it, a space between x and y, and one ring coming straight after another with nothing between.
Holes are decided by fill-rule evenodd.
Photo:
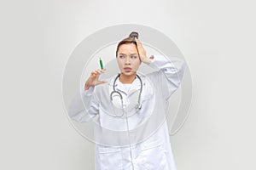
<instances>
[{"instance_id":1,"label":"woman's hand holding up the green syringe","mask_svg":"<svg viewBox=\"0 0 256 170\"><path fill-rule=\"evenodd\" d=\"M96 70L96 71L92 71L90 73L90 77L87 79L87 81L85 82L84 85L84 91L88 90L90 87L96 86L98 84L102 84L105 83L105 81L100 81L99 77L100 75L105 72L106 69L102 69L102 70Z\"/></svg>"}]
</instances>

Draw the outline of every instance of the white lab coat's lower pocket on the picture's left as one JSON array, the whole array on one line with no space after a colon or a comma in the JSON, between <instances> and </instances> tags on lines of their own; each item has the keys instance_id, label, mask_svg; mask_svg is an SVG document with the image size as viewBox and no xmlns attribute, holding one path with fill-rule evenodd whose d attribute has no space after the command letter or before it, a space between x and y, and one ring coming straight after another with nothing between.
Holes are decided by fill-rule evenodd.
<instances>
[{"instance_id":1,"label":"white lab coat's lower pocket on the picture's left","mask_svg":"<svg viewBox=\"0 0 256 170\"><path fill-rule=\"evenodd\" d=\"M122 153L120 148L99 147L99 156L101 161L101 170L121 170Z\"/></svg>"}]
</instances>

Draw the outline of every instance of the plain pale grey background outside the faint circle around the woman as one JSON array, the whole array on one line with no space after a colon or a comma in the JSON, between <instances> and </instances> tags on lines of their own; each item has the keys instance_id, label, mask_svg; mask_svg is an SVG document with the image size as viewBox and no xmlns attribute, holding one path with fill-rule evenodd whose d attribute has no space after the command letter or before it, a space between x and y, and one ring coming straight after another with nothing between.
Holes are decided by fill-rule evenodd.
<instances>
[{"instance_id":1,"label":"plain pale grey background outside the faint circle around the woman","mask_svg":"<svg viewBox=\"0 0 256 170\"><path fill-rule=\"evenodd\" d=\"M92 169L92 144L62 104L73 49L107 26L170 37L193 76L193 102L172 137L178 170L256 169L255 3L244 0L9 0L0 3L0 169Z\"/></svg>"}]
</instances>

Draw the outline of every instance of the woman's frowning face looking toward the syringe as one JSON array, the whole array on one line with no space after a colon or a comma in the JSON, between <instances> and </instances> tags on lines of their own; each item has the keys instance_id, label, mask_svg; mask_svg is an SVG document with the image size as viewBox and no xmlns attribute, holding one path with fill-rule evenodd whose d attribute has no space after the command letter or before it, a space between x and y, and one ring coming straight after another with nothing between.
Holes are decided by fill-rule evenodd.
<instances>
[{"instance_id":1,"label":"woman's frowning face looking toward the syringe","mask_svg":"<svg viewBox=\"0 0 256 170\"><path fill-rule=\"evenodd\" d=\"M136 74L139 66L141 65L137 46L134 43L120 45L117 61L122 74L125 74L125 76Z\"/></svg>"}]
</instances>

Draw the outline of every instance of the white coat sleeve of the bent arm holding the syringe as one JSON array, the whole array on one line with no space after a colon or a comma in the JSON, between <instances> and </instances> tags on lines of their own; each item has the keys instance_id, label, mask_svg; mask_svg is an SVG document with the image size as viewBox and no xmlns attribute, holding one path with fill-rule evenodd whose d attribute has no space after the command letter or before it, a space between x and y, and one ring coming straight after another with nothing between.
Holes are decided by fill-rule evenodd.
<instances>
[{"instance_id":1,"label":"white coat sleeve of the bent arm holding the syringe","mask_svg":"<svg viewBox=\"0 0 256 170\"><path fill-rule=\"evenodd\" d=\"M99 102L94 87L77 94L68 109L68 115L76 122L88 122L98 114Z\"/></svg>"}]
</instances>

